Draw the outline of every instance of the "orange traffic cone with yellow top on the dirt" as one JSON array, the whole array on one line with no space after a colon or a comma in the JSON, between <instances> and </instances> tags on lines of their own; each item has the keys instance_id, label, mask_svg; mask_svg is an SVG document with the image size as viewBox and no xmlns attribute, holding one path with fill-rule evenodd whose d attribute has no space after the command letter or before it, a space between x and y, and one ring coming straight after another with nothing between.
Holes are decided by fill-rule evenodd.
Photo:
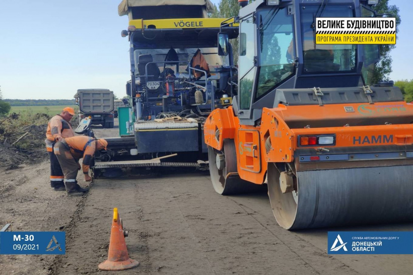
<instances>
[{"instance_id":1,"label":"orange traffic cone with yellow top on the dirt","mask_svg":"<svg viewBox=\"0 0 413 275\"><path fill-rule=\"evenodd\" d=\"M113 209L112 230L110 232L110 243L108 259L99 264L99 269L102 270L125 270L136 267L139 261L129 258L127 253L125 237L123 235L123 227L117 213L117 208Z\"/></svg>"}]
</instances>

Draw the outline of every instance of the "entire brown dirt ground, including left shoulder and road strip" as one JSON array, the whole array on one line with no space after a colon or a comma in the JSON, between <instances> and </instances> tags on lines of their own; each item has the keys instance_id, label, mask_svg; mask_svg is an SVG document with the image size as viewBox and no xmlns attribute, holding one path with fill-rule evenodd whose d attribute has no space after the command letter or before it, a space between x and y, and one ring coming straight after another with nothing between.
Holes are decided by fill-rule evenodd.
<instances>
[{"instance_id":1,"label":"entire brown dirt ground, including left shoulder and road strip","mask_svg":"<svg viewBox=\"0 0 413 275\"><path fill-rule=\"evenodd\" d=\"M76 198L49 187L48 165L0 172L0 225L65 231L66 254L0 255L7 273L114 273L97 268L107 257L114 207L129 231L129 256L141 263L122 274L410 274L413 268L413 255L328 255L328 229L284 230L266 194L219 195L208 172L98 179ZM413 224L330 230L412 231Z\"/></svg>"}]
</instances>

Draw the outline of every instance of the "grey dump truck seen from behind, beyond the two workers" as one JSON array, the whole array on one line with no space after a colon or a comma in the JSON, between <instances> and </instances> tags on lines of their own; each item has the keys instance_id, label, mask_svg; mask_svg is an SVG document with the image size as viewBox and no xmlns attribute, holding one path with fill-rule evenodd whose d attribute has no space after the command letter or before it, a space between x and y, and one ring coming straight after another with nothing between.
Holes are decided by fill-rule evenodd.
<instances>
[{"instance_id":1,"label":"grey dump truck seen from behind, beyond the two workers","mask_svg":"<svg viewBox=\"0 0 413 275\"><path fill-rule=\"evenodd\" d=\"M108 89L79 89L75 94L79 105L79 122L90 117L92 125L113 128L113 92Z\"/></svg>"}]
</instances>

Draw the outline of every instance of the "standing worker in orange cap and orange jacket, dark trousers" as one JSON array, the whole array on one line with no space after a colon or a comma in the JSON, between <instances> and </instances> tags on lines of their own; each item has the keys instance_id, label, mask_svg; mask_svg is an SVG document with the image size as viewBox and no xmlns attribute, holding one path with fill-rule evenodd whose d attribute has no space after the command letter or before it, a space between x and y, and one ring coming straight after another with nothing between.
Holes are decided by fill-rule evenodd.
<instances>
[{"instance_id":1,"label":"standing worker in orange cap and orange jacket, dark trousers","mask_svg":"<svg viewBox=\"0 0 413 275\"><path fill-rule=\"evenodd\" d=\"M55 191L64 191L63 172L60 164L53 154L53 147L56 142L66 137L75 135L72 124L70 123L72 117L75 115L75 110L71 107L64 108L60 114L53 116L47 124L46 131L46 150L50 158L50 186Z\"/></svg>"}]
</instances>

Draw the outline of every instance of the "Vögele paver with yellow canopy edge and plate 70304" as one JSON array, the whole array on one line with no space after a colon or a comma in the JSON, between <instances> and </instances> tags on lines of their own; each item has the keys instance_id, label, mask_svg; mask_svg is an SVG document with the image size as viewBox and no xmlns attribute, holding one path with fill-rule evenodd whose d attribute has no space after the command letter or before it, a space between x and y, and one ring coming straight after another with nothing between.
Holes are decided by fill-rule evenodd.
<instances>
[{"instance_id":1,"label":"V\u00f6gele paver with yellow canopy edge and plate 70304","mask_svg":"<svg viewBox=\"0 0 413 275\"><path fill-rule=\"evenodd\" d=\"M213 7L209 0L120 3L119 15L129 19L121 32L130 45L129 107L119 108L120 137L106 139L111 161L95 170L206 165L203 122L229 106L235 91L232 53L218 54L217 37L238 37L233 19L208 18Z\"/></svg>"}]
</instances>

